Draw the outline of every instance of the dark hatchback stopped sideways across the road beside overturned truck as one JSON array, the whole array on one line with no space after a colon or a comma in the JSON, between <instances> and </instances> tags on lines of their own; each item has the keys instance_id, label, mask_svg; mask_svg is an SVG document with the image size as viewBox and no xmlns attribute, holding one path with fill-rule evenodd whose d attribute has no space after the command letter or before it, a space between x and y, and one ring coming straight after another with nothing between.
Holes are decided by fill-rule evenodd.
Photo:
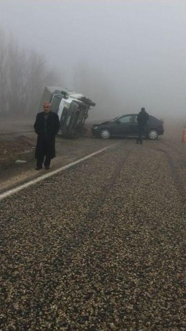
<instances>
[{"instance_id":1,"label":"dark hatchback stopped sideways across the road beside overturned truck","mask_svg":"<svg viewBox=\"0 0 186 331\"><path fill-rule=\"evenodd\" d=\"M138 114L122 115L110 121L94 124L92 135L108 139L112 137L127 137L138 135ZM144 131L144 136L149 139L156 139L163 134L163 120L149 115L149 120Z\"/></svg>"}]
</instances>

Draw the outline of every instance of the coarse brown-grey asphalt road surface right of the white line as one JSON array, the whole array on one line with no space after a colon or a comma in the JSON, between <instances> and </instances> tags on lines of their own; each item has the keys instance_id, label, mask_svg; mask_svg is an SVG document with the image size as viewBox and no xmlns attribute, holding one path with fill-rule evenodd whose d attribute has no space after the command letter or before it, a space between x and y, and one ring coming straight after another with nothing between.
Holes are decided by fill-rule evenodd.
<instances>
[{"instance_id":1,"label":"coarse brown-grey asphalt road surface right of the white line","mask_svg":"<svg viewBox=\"0 0 186 331\"><path fill-rule=\"evenodd\" d=\"M2 200L0 328L186 330L185 147L124 139Z\"/></svg>"}]
</instances>

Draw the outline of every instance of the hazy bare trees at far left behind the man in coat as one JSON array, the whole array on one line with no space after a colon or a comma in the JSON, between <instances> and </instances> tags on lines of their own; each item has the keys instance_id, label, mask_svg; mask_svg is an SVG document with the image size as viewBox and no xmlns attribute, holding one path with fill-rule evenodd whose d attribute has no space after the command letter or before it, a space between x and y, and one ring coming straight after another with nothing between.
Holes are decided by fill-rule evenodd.
<instances>
[{"instance_id":1,"label":"hazy bare trees at far left behind the man in coat","mask_svg":"<svg viewBox=\"0 0 186 331\"><path fill-rule=\"evenodd\" d=\"M31 115L38 111L45 85L57 85L59 76L44 58L21 49L0 29L0 114Z\"/></svg>"}]
</instances>

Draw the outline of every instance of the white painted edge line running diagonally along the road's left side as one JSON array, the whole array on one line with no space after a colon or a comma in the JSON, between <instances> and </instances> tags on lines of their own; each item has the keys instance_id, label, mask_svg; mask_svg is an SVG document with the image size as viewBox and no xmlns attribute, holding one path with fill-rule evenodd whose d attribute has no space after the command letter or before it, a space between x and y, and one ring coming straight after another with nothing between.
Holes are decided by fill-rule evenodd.
<instances>
[{"instance_id":1,"label":"white painted edge line running diagonally along the road's left side","mask_svg":"<svg viewBox=\"0 0 186 331\"><path fill-rule=\"evenodd\" d=\"M94 152L94 153L92 153L92 154L89 154L89 155L85 156L85 157L82 158L82 159L79 159L79 160L77 160L77 161L74 161L74 162L72 162L72 163L69 163L68 165L66 165L66 166L62 166L62 167L60 167L60 168L58 168L58 169L56 169L56 170L54 170L54 171L48 172L48 173L46 173L45 175L42 175L42 176L37 177L37 178L35 178L35 179L33 179L33 180L30 180L29 182L27 182L27 183L25 183L25 184L23 184L23 185L17 186L17 187L15 187L15 188L13 188L12 190L8 190L8 191L6 191L6 192L0 194L0 200L2 200L2 199L6 198L6 197L8 197L8 196L10 196L10 195L12 195L12 194L14 194L14 193L17 193L17 192L23 190L24 188L29 187L29 186L31 186L31 185L37 183L37 182L40 182L41 180L43 180L43 179L45 179L45 178L51 177L51 176L55 175L56 173L58 173L58 172L60 172L60 171L63 171L63 170L65 170L65 169L70 168L71 166L74 166L74 165L76 165L76 164L78 164L78 163L80 163L80 162L83 162L83 161L85 161L85 160L91 158L92 156L94 156L94 155L96 155L96 154L99 154L99 153L105 151L107 148L113 147L113 146L115 146L115 145L117 145L117 144L118 144L118 143L116 143L116 144L112 144L112 145L109 145L109 146L107 146L107 147L105 147L105 148L100 149L100 150L97 151L97 152Z\"/></svg>"}]
</instances>

